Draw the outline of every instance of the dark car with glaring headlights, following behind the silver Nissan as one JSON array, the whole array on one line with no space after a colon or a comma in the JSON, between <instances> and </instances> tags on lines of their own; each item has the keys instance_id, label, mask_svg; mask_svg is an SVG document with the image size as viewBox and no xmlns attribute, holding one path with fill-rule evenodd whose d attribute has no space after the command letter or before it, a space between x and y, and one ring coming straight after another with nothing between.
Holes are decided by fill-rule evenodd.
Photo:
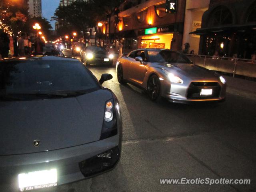
<instances>
[{"instance_id":1,"label":"dark car with glaring headlights, following behind the silver Nissan","mask_svg":"<svg viewBox=\"0 0 256 192\"><path fill-rule=\"evenodd\" d=\"M81 51L81 60L86 65L112 66L114 54L109 53L104 47L87 46Z\"/></svg>"}]
</instances>

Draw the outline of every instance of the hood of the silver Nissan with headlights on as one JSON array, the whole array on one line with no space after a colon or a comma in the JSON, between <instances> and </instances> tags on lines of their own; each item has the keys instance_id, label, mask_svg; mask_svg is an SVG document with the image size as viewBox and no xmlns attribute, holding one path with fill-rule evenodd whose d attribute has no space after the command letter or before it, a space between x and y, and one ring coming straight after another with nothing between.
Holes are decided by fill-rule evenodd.
<instances>
[{"instance_id":1,"label":"hood of the silver Nissan with headlights on","mask_svg":"<svg viewBox=\"0 0 256 192\"><path fill-rule=\"evenodd\" d=\"M169 72L190 78L216 78L214 72L194 64L161 64Z\"/></svg>"}]
</instances>

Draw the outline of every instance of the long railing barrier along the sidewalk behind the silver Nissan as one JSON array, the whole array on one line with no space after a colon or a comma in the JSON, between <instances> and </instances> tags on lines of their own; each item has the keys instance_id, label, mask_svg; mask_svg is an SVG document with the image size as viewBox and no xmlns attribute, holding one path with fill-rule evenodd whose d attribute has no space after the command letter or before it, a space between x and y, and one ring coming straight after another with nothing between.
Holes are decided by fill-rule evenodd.
<instances>
[{"instance_id":1,"label":"long railing barrier along the sidewalk behind the silver Nissan","mask_svg":"<svg viewBox=\"0 0 256 192\"><path fill-rule=\"evenodd\" d=\"M256 78L256 61L240 58L186 54L195 65L224 73Z\"/></svg>"}]
</instances>

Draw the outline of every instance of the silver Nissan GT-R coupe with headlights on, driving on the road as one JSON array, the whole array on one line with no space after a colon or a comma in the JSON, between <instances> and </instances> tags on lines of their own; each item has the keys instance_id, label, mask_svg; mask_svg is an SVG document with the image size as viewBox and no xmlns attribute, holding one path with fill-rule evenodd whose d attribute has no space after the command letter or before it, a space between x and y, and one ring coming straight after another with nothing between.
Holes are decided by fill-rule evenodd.
<instances>
[{"instance_id":1,"label":"silver Nissan GT-R coupe with headlights on, driving on the road","mask_svg":"<svg viewBox=\"0 0 256 192\"><path fill-rule=\"evenodd\" d=\"M226 80L215 72L196 66L180 52L146 48L122 56L116 64L118 82L146 90L152 100L171 102L221 101Z\"/></svg>"}]
</instances>

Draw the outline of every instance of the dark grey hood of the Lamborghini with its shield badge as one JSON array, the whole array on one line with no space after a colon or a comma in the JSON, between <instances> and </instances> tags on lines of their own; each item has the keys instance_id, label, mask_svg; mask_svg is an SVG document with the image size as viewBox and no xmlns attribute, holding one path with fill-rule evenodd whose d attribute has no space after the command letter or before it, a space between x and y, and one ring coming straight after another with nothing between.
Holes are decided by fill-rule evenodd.
<instances>
[{"instance_id":1,"label":"dark grey hood of the Lamborghini with its shield badge","mask_svg":"<svg viewBox=\"0 0 256 192\"><path fill-rule=\"evenodd\" d=\"M78 146L99 140L108 90L73 98L0 102L0 156ZM40 140L35 147L34 140Z\"/></svg>"}]
</instances>

